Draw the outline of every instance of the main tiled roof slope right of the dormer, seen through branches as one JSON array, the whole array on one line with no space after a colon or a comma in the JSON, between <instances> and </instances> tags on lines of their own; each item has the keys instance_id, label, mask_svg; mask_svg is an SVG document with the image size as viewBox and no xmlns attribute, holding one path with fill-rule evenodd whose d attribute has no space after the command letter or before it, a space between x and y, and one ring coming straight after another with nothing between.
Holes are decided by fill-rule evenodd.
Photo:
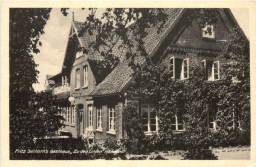
<instances>
[{"instance_id":1,"label":"main tiled roof slope right of the dormer, seen through branches","mask_svg":"<svg viewBox=\"0 0 256 167\"><path fill-rule=\"evenodd\" d=\"M168 28L174 23L182 9L166 9L169 14L168 21L164 28L157 33L156 27L147 28L148 35L145 37L145 50L150 55L155 47L157 47L160 39L165 34ZM128 66L129 61L125 60L117 65L114 70L92 91L92 96L117 94L123 90L127 83L133 77L133 70Z\"/></svg>"}]
</instances>

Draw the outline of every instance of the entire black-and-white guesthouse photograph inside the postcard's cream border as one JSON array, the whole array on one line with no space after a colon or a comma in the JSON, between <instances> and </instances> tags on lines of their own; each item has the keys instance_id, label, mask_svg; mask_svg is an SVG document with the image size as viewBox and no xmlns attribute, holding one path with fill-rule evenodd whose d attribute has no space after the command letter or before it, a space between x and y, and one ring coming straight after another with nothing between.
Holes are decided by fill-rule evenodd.
<instances>
[{"instance_id":1,"label":"entire black-and-white guesthouse photograph inside the postcard's cream border","mask_svg":"<svg viewBox=\"0 0 256 167\"><path fill-rule=\"evenodd\" d=\"M251 159L248 8L8 12L9 160Z\"/></svg>"}]
</instances>

